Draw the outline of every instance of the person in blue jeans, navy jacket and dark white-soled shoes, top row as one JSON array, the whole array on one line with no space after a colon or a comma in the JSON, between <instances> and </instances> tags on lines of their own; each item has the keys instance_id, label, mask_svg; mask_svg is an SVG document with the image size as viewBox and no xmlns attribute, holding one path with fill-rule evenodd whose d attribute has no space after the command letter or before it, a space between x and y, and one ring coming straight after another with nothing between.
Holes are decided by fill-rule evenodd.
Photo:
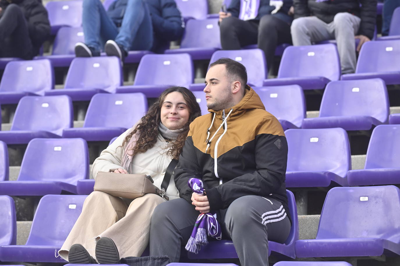
<instances>
[{"instance_id":1,"label":"person in blue jeans, navy jacket and dark white-soled shoes, top row","mask_svg":"<svg viewBox=\"0 0 400 266\"><path fill-rule=\"evenodd\" d=\"M122 61L130 50L169 48L184 30L174 0L116 0L107 11L100 0L84 0L82 26L85 43L76 44L76 56L99 56L104 47Z\"/></svg>"}]
</instances>

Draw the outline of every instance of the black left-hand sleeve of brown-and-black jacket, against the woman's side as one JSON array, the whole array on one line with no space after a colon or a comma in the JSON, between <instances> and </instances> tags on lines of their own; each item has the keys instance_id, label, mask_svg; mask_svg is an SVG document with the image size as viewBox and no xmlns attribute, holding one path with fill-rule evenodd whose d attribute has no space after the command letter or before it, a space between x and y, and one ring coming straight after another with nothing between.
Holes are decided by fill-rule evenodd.
<instances>
[{"instance_id":1,"label":"black left-hand sleeve of brown-and-black jacket, against the woman's side","mask_svg":"<svg viewBox=\"0 0 400 266\"><path fill-rule=\"evenodd\" d=\"M190 135L190 132L189 132ZM188 186L190 178L202 178L202 168L198 165L196 148L193 145L192 137L186 139L182 153L179 156L179 162L174 170L174 181L179 191L179 196L187 202L192 203L192 189Z\"/></svg>"}]
</instances>

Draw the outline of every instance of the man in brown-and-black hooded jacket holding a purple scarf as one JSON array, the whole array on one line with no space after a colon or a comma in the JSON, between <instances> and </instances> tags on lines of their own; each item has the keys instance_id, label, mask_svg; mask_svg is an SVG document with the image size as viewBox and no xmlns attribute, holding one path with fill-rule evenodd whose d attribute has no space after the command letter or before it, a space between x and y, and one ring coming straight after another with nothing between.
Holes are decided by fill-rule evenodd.
<instances>
[{"instance_id":1,"label":"man in brown-and-black hooded jacket holding a purple scarf","mask_svg":"<svg viewBox=\"0 0 400 266\"><path fill-rule=\"evenodd\" d=\"M241 265L268 265L268 240L284 243L291 226L282 126L246 85L239 62L217 60L205 83L210 113L190 124L174 171L181 198L156 207L150 256L178 262L200 212L217 212L222 238L232 239ZM205 196L192 193L191 178L203 181Z\"/></svg>"}]
</instances>

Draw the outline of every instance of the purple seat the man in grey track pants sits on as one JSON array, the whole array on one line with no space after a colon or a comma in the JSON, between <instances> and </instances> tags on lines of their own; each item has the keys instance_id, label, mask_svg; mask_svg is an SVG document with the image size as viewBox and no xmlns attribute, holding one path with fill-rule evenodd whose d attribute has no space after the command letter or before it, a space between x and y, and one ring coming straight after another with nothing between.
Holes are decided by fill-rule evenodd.
<instances>
[{"instance_id":1,"label":"purple seat the man in grey track pants sits on","mask_svg":"<svg viewBox=\"0 0 400 266\"><path fill-rule=\"evenodd\" d=\"M280 244L273 241L268 241L268 256L272 254L276 256L295 258L294 244L299 239L298 232L298 218L297 218L297 207L294 195L291 191L286 190L288 195L288 206L290 216L292 218L292 227L290 228L290 234L284 244ZM199 251L198 254L188 252L188 258L191 259L216 259L216 258L238 258L233 242L230 240L215 240L210 241L208 244Z\"/></svg>"}]
</instances>

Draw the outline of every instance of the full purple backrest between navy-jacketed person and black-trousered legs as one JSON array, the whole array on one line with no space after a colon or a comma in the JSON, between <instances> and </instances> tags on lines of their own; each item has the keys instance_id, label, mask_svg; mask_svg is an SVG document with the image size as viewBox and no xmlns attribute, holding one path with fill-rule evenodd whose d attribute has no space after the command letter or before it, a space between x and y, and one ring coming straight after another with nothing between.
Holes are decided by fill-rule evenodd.
<instances>
[{"instance_id":1,"label":"full purple backrest between navy-jacketed person and black-trousered legs","mask_svg":"<svg viewBox=\"0 0 400 266\"><path fill-rule=\"evenodd\" d=\"M218 18L188 20L180 48L221 48Z\"/></svg>"}]
</instances>

